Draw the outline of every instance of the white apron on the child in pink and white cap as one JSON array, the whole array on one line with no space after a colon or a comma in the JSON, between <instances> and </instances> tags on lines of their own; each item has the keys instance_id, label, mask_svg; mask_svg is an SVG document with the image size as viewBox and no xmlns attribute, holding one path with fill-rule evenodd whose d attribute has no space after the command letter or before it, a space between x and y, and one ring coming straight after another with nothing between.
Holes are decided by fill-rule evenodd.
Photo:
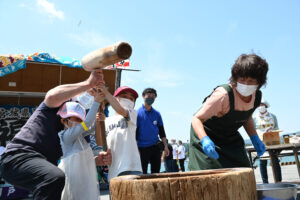
<instances>
[{"instance_id":1,"label":"white apron on the child in pink and white cap","mask_svg":"<svg viewBox=\"0 0 300 200\"><path fill-rule=\"evenodd\" d=\"M81 147L82 143L79 140ZM58 167L65 172L62 200L99 200L97 170L91 147L63 158Z\"/></svg>"}]
</instances>

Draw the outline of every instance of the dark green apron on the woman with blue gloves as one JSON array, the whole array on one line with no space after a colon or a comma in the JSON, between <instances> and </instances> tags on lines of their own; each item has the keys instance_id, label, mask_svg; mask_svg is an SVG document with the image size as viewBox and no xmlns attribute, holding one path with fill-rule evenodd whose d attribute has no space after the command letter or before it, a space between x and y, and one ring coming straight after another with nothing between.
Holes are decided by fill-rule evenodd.
<instances>
[{"instance_id":1,"label":"dark green apron on the woman with blue gloves","mask_svg":"<svg viewBox=\"0 0 300 200\"><path fill-rule=\"evenodd\" d=\"M219 159L209 158L204 152L200 140L191 126L189 169L218 169L231 167L250 167L245 143L238 129L252 116L261 102L261 91L256 92L254 107L248 111L234 110L234 93L228 85L221 85L227 92L230 110L222 117L212 117L203 123L206 134L215 143ZM208 96L209 97L209 96ZM207 97L204 99L207 99Z\"/></svg>"}]
</instances>

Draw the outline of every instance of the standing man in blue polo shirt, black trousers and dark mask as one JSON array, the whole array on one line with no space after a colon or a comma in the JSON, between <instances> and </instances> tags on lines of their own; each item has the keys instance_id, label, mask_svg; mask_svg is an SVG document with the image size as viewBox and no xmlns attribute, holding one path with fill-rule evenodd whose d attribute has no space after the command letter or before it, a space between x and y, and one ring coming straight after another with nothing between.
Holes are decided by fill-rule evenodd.
<instances>
[{"instance_id":1,"label":"standing man in blue polo shirt, black trousers and dark mask","mask_svg":"<svg viewBox=\"0 0 300 200\"><path fill-rule=\"evenodd\" d=\"M149 163L151 164L151 173L159 173L162 151L165 156L168 156L169 149L161 115L152 107L157 93L153 88L146 88L142 96L144 104L138 110L136 137L143 173L147 174Z\"/></svg>"}]
</instances>

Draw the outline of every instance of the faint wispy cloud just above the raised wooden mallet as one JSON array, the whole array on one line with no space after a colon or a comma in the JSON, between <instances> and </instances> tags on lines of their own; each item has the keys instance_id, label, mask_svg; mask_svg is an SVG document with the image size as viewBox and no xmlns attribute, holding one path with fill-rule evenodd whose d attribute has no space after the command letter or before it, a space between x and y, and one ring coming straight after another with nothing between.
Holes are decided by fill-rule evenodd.
<instances>
[{"instance_id":1,"label":"faint wispy cloud just above the raised wooden mallet","mask_svg":"<svg viewBox=\"0 0 300 200\"><path fill-rule=\"evenodd\" d=\"M69 33L67 36L77 45L87 48L105 47L116 42L93 31L84 32L83 34Z\"/></svg>"}]
</instances>

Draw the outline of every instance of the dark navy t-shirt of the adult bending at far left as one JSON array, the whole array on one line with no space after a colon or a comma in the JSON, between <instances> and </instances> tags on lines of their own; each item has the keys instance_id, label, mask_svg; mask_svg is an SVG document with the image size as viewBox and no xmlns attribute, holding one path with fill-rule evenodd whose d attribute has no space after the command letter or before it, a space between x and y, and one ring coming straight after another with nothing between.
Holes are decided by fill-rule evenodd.
<instances>
[{"instance_id":1,"label":"dark navy t-shirt of the adult bending at far left","mask_svg":"<svg viewBox=\"0 0 300 200\"><path fill-rule=\"evenodd\" d=\"M6 146L4 153L16 150L38 152L56 165L62 156L58 132L64 129L61 118L57 115L58 109L49 108L42 102Z\"/></svg>"}]
</instances>

